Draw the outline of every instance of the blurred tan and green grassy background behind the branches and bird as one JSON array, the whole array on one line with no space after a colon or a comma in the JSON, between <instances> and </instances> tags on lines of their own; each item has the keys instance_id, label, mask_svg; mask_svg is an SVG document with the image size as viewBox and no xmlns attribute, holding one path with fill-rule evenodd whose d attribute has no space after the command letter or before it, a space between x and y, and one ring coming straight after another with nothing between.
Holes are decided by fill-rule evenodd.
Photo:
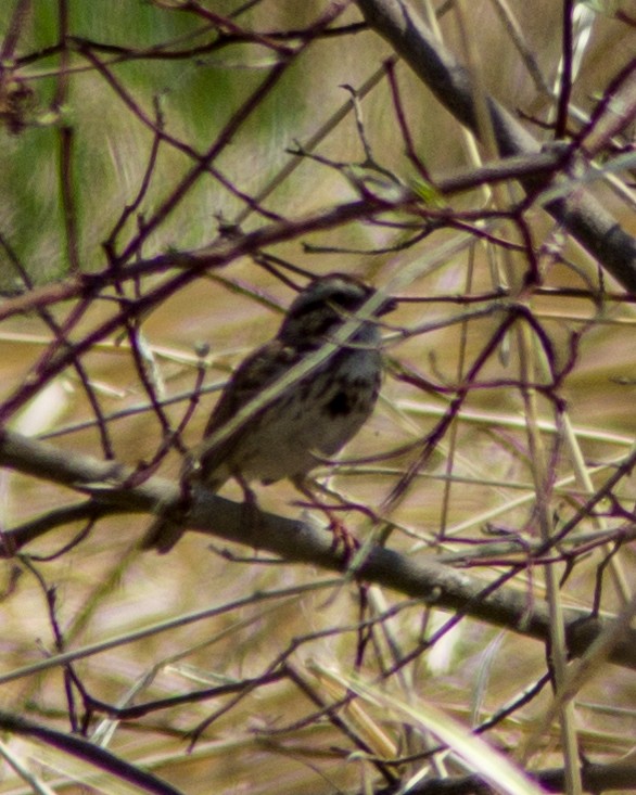
<instances>
[{"instance_id":1,"label":"blurred tan and green grassy background behind the branches and bird","mask_svg":"<svg viewBox=\"0 0 636 795\"><path fill-rule=\"evenodd\" d=\"M165 441L148 383L155 398L167 401L175 427L198 368L205 368L203 394L183 433L191 446L232 369L276 333L295 292L272 272L271 258L297 287L311 274L354 273L408 300L387 318L386 375L373 418L346 448L345 463L319 472L319 479L329 474L343 500L391 522L387 546L415 561L468 566L484 585L517 567L510 587L526 594L531 606L546 595L545 561L530 565L519 550L540 538L537 483L546 489L543 498L558 531L621 464L636 429L636 361L629 298L538 203L523 213L523 223L540 283L523 288L530 253L511 221L522 197L516 183L497 191L482 185L443 201L433 190L418 211L396 210L320 232L305 233L300 223L297 234L267 247L267 267L263 256L234 257L156 300L153 291L160 295L176 269L151 269L136 279L125 274L153 257L209 246L221 233L236 240L277 220L327 213L359 198L361 185L391 196L398 184L421 184L406 153L397 100L433 184L479 166L474 139L399 61L396 93L383 68L391 48L365 27L355 3L342 5L335 13L328 2L284 0L7 4L0 15L0 291L7 310L0 316L1 415L9 427L48 439L68 456L104 458L97 403L114 457L143 467ZM440 40L479 75L482 88L539 141L551 140L564 4L411 5L429 22L436 13ZM608 87L633 57L628 5L574 4L572 134L609 99ZM346 87L358 94L357 113ZM627 196L634 176L608 164L621 146L633 148L633 137L632 121L597 153L607 174L587 185L632 233L634 204ZM213 151L204 172L188 181ZM495 208L503 218L491 217ZM431 229L442 209L444 223ZM104 282L88 298L75 291L69 299L55 299L61 285L99 280L116 267L124 269L118 284ZM532 316L532 328L520 321L504 329L509 316L497 297L501 291ZM18 311L29 295L29 311ZM474 303L459 298L481 295ZM122 323L87 343L126 302L140 298L148 299L140 323ZM60 329L66 344L86 344L78 357L84 383L73 367L38 381L54 361ZM38 388L27 395L25 385L33 381ZM539 386L532 412L527 383ZM533 457L529 427L538 427L543 462ZM429 454L420 466L424 449ZM176 479L180 460L174 448L160 456L158 474ZM391 500L409 469L415 476ZM0 483L4 530L77 499L9 470ZM242 499L232 484L222 493ZM631 522L635 497L626 475L613 501L597 507L600 515L574 528L570 546L559 550L563 556L555 553L563 606L588 612L599 584L608 615L628 600L634 550L612 544ZM285 516L301 511L287 483L258 488L257 499ZM29 544L25 556L5 561L2 671L129 636L129 642L74 666L92 697L128 706L260 677L289 653L323 704L345 692L326 671L346 679L357 670L366 682L382 676L396 703L434 705L469 728L545 675L540 643L466 617L437 637L450 614L377 587L366 613L377 625L360 661L360 594L352 582L334 585L330 573L272 563L250 549L228 552L225 543L213 547L193 534L168 557L140 554L136 544L150 521L102 520L66 549L85 527L69 524ZM382 525L356 510L345 522L361 539ZM610 534L606 546L601 533ZM521 540L496 546L510 538ZM611 563L599 568L610 550L616 552ZM310 585L307 592L295 590ZM272 590L280 591L277 599L259 595ZM135 640L154 623L222 605L214 617ZM382 618L384 611L394 614ZM298 649L292 652L294 642ZM409 655L411 662L398 663ZM614 761L631 749L634 687L629 671L602 661L577 694L576 736L586 758ZM65 687L58 668L5 683L0 693L3 709L63 731L72 728L74 710L88 713L86 733L94 742L188 793L321 793L358 788L366 775L379 775L372 761L351 757L359 746L289 676L241 698L180 703L120 722L91 711L86 693L77 684ZM484 736L513 756L530 742L550 701L548 685ZM370 703L360 709L364 719L346 713L342 719L380 757L408 757L435 745L404 716ZM190 732L217 710L187 754ZM123 786L67 755L17 738L11 746L55 791ZM556 723L538 746L530 768L562 764ZM419 757L404 761L392 774L408 778L425 764ZM390 781L384 777L383 783ZM0 792L27 788L7 768Z\"/></svg>"}]
</instances>

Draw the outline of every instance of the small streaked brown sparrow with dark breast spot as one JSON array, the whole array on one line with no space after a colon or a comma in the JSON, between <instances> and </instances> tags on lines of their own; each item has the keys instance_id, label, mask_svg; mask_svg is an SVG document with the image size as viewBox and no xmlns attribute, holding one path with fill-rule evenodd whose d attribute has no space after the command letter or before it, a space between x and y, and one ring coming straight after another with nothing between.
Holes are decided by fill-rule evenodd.
<instances>
[{"instance_id":1,"label":"small streaked brown sparrow with dark breast spot","mask_svg":"<svg viewBox=\"0 0 636 795\"><path fill-rule=\"evenodd\" d=\"M356 320L362 307L364 315ZM243 485L288 477L300 486L322 459L355 436L371 413L382 375L377 319L394 308L393 299L382 300L345 273L311 281L292 303L276 337L233 373L203 441L185 463L182 484L195 479L217 490L230 477ZM342 331L345 324L348 336ZM339 331L344 336L334 345ZM301 369L307 371L298 374L303 363L307 367ZM260 403L268 387L272 395ZM254 412L233 427L249 403ZM142 547L167 552L182 534L183 512L180 518L158 516Z\"/></svg>"}]
</instances>

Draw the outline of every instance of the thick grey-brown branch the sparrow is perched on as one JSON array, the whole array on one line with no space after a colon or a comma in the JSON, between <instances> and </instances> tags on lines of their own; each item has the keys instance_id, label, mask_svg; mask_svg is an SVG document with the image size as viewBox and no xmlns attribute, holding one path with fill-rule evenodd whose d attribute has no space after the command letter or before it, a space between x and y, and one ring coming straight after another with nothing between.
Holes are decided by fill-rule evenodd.
<instances>
[{"instance_id":1,"label":"thick grey-brown branch the sparrow is perched on","mask_svg":"<svg viewBox=\"0 0 636 795\"><path fill-rule=\"evenodd\" d=\"M69 456L52 445L11 431L0 434L0 466L88 491L109 513L152 513L178 504L181 497L178 485L164 478L149 477L139 485L127 487L126 479L132 471L122 464L77 453ZM204 488L195 490L192 498L188 516L192 530L267 550L285 561L346 572L346 555L333 548L332 534L325 529L271 513L263 513L258 522L247 523L243 504ZM24 542L8 531L0 554L9 556ZM499 581L484 586L483 580L434 560L416 562L398 552L376 547L365 559L357 577L422 599L441 610L459 612L543 642L549 638L549 613L544 602L535 600L530 606L522 591ZM601 633L611 632L613 624L610 619L586 618L585 613L576 610L565 611L570 656L584 654ZM609 659L636 668L636 630L624 633Z\"/></svg>"}]
</instances>

